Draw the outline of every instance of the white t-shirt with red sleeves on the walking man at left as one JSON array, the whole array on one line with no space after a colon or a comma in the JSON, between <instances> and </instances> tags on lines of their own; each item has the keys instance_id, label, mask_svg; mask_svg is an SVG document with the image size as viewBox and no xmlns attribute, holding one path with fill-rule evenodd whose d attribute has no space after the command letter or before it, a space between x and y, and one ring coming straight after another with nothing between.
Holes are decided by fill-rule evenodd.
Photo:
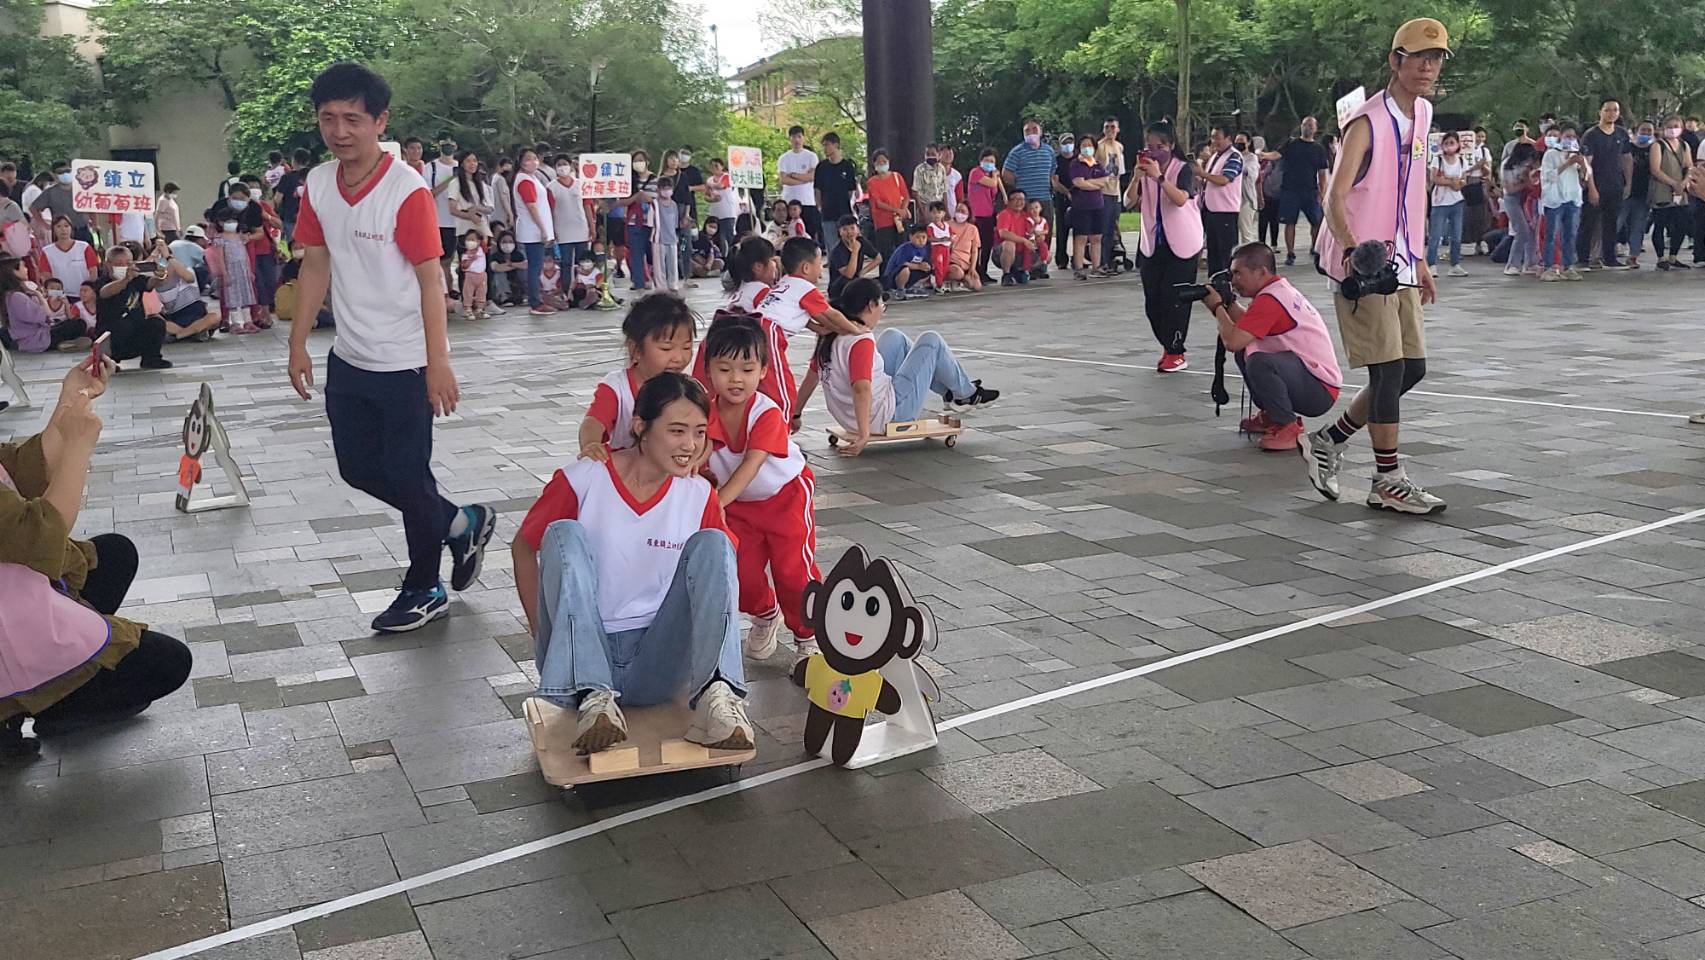
<instances>
[{"instance_id":1,"label":"white t-shirt with red sleeves on the walking man at left","mask_svg":"<svg viewBox=\"0 0 1705 960\"><path fill-rule=\"evenodd\" d=\"M414 266L443 256L431 191L390 153L360 193L343 188L343 164L309 171L295 240L331 252L332 351L361 370L426 367L421 285Z\"/></svg>"}]
</instances>

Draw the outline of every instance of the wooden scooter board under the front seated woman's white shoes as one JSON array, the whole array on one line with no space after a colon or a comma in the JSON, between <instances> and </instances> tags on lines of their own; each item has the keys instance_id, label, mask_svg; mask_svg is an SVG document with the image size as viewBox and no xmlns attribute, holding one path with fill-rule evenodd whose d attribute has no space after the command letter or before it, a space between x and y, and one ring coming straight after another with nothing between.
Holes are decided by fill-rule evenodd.
<instances>
[{"instance_id":1,"label":"wooden scooter board under the front seated woman's white shoes","mask_svg":"<svg viewBox=\"0 0 1705 960\"><path fill-rule=\"evenodd\" d=\"M539 755L539 771L546 783L556 786L726 767L757 757L755 749L713 750L682 740L680 735L692 723L692 709L685 703L624 709L627 740L588 755L575 750L575 725L580 718L573 709L529 697L523 711L534 754Z\"/></svg>"}]
</instances>

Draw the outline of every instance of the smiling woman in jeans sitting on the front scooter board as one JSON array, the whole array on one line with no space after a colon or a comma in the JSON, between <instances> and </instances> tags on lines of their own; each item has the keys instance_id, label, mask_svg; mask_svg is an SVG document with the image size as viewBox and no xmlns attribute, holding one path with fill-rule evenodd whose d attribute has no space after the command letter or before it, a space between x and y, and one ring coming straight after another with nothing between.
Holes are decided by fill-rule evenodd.
<instances>
[{"instance_id":1,"label":"smiling woman in jeans sitting on the front scooter board","mask_svg":"<svg viewBox=\"0 0 1705 960\"><path fill-rule=\"evenodd\" d=\"M617 699L694 709L685 738L752 747L735 549L704 462L709 399L658 373L634 396L633 447L559 469L515 537L515 590L539 696L580 711L575 749L627 738Z\"/></svg>"}]
</instances>

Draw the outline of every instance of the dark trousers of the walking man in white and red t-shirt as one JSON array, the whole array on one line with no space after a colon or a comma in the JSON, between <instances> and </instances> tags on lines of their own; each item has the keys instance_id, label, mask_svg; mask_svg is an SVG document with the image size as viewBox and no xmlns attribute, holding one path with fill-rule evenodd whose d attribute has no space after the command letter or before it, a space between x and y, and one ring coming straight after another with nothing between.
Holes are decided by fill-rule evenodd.
<instances>
[{"instance_id":1,"label":"dark trousers of the walking man in white and red t-shirt","mask_svg":"<svg viewBox=\"0 0 1705 960\"><path fill-rule=\"evenodd\" d=\"M455 505L431 476L426 370L375 373L332 353L326 360L326 418L343 483L402 513L409 542L402 587L433 587Z\"/></svg>"}]
</instances>

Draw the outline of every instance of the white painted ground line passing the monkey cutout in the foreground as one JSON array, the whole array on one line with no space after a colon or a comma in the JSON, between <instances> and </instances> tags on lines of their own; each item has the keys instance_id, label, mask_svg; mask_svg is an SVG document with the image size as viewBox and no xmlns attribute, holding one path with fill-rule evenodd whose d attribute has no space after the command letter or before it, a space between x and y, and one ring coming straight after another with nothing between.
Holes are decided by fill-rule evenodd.
<instances>
[{"instance_id":1,"label":"white painted ground line passing the monkey cutout in the foreground","mask_svg":"<svg viewBox=\"0 0 1705 960\"><path fill-rule=\"evenodd\" d=\"M1673 517L1664 517L1662 520L1654 520L1650 523L1642 523L1639 527L1630 527L1627 530L1618 530L1615 534L1604 534L1601 537L1592 537L1589 541L1581 541L1581 542L1567 544L1567 546L1562 546L1562 547L1552 547L1548 551L1541 551L1541 552L1536 552L1533 556L1524 556L1524 558L1504 561L1504 563L1499 563L1499 564L1494 564L1494 566L1487 566L1483 570L1477 570L1473 573L1463 573L1459 576L1451 576L1449 580L1439 580L1439 581L1429 583L1425 587L1417 587L1413 590L1405 590L1402 593L1395 593L1395 595L1386 597L1383 600L1369 600L1367 604L1361 604L1361 605L1355 605L1355 607L1347 607L1347 609L1342 609L1342 610L1333 610L1330 614L1320 614L1320 616L1309 617L1306 621L1298 621L1294 624L1286 624L1286 626L1280 626L1280 627L1267 629L1267 631L1255 633L1255 634L1250 634L1250 636L1245 636L1245 638L1228 639L1226 643L1219 643L1219 645L1214 645L1214 646L1205 646L1202 650L1192 650L1188 653L1180 653L1176 656L1168 656L1165 660L1156 660L1154 663L1144 663L1142 667L1134 667L1130 670L1120 670L1118 674L1108 674L1107 677L1096 677L1093 680L1081 680L1081 682L1061 687L1057 691L1047 691L1047 692L1033 694L1033 696L1028 696L1028 697L1020 697L1020 699L1014 699L1014 701L996 704L996 706L991 706L991 708L977 709L977 711L972 711L972 713L967 713L967 714L955 716L953 720L946 720L938 728L939 730L955 730L955 728L965 726L968 723L977 723L979 720L989 720L992 716L1003 716L1003 714L1008 714L1008 713L1013 713L1013 711L1018 711L1018 709L1026 709L1026 708L1032 708L1032 706L1037 706L1037 704L1052 703L1052 701L1057 701L1057 699L1062 699L1062 697L1069 697L1072 694L1081 694L1084 691L1095 691L1095 689L1100 689L1100 687L1105 687L1105 685L1110 685L1110 684L1118 684L1122 680L1129 680L1132 677L1142 677L1144 674L1153 674L1156 670L1165 670L1168 667L1176 667L1180 663L1190 663L1194 660L1202 660L1205 656L1214 656L1216 653L1224 653L1228 650L1236 650L1240 646L1250 646L1251 643L1260 643L1263 639L1272 639L1275 636L1284 636L1284 634L1296 633L1296 631L1301 631L1301 629L1308 629L1308 627L1313 627L1313 626L1323 626L1323 624L1330 624L1330 622L1342 621L1342 619L1347 619L1347 617L1355 617L1355 616L1361 616L1361 614L1366 614L1366 612L1371 612L1371 610L1379 610L1379 609L1384 609L1384 607L1390 607L1390 605L1395 605L1395 604L1402 604L1405 600L1413 600L1417 597L1427 597L1427 595L1437 593L1441 590L1451 590L1451 588L1461 587L1465 583L1473 583L1477 580L1485 580L1488 576L1497 576L1500 573L1509 573L1511 570L1519 570L1523 566L1531 566L1534 563L1543 563L1546 559L1553 559L1553 558L1558 558L1558 556L1565 556L1565 554L1572 554L1572 552L1581 552L1581 551L1586 551L1586 549L1592 549L1596 546L1610 544L1610 542L1615 542L1615 541L1623 541L1623 539L1628 539L1628 537L1637 537L1640 534L1649 534L1652 530L1661 530L1664 527L1674 527L1676 523L1690 523L1690 522L1698 520L1702 517L1705 517L1705 508L1690 510L1686 513L1678 513L1678 515L1673 515ZM810 772L810 771L815 771L815 769L820 769L820 767L825 767L825 766L829 766L829 760L824 760L824 759L818 757L818 759L810 759L810 760L805 760L805 762L793 764L789 767L774 769L774 771L769 771L766 774L754 776L750 779L742 779L742 781L737 781L737 783L730 783L730 784L723 784L723 786L714 786L714 788L709 788L709 789L701 789L699 793L689 793L685 796L677 796L673 800L665 800L662 803L653 803L650 807L641 807L638 810L629 810L627 813L621 813L621 815L610 817L609 820L598 820L597 824L587 824L585 827L575 827L573 830L564 830L561 834L552 834L549 837L540 837L537 841L518 844L518 846L513 846L513 847L508 847L508 849L500 849L500 851L494 851L494 853L488 853L488 854L474 858L474 859L467 859L467 861L462 861L462 863L452 863L450 866L443 866L443 868L433 870L431 873L421 873L419 876L409 876L407 880L397 880L396 883L387 883L384 887L375 887L372 890L363 890L360 893L351 893L348 897L339 897L339 899L329 900L326 904L319 904L319 905L314 905L314 907L303 907L300 911L292 911L288 914L280 914L280 916L276 916L273 919L266 919L266 921L252 922L252 924L247 924L247 926L240 926L237 929L230 929L230 931L225 931L225 933L220 933L220 934L215 934L215 936L206 936L203 940L184 943L181 946L170 946L170 948L165 948L165 950L159 950L155 953L148 953L145 957L140 957L138 960L181 960L184 957L194 957L196 953L201 953L201 951L206 951L206 950L213 950L215 946L225 946L225 945L230 945L230 943L239 943L239 941L244 941L244 940L249 940L249 938L254 938L254 936L273 933L276 929L285 929L286 926L293 926L293 924L298 924L298 922L303 922L303 921L312 921L312 919L319 919L319 917L324 917L324 916L336 914L339 911L348 911L350 907L360 907L361 904L372 904L373 900L380 900L384 897L394 897L397 893L407 893L409 890L418 890L418 888L431 885L431 883L442 883L445 880L454 880L457 876L465 876L469 873L474 873L476 870L484 870L488 866L496 866L500 863L508 863L512 859L518 859L518 858L523 858L523 856L529 856L529 854L535 854L539 851L546 851L546 849L558 847L558 846L563 846L563 844L568 844L568 842L587 839L587 837L602 834L605 830L612 830L616 827L624 827L627 824L638 824L641 820L650 820L651 817L658 817L662 813L670 813L673 810L682 810L685 807L696 807L696 805L704 803L708 800L716 800L720 796L731 796L735 793L742 793L742 791L747 791L747 789L755 789L759 786L766 786L766 784L777 783L777 781L783 781L783 779L791 779L795 776L800 776L803 772Z\"/></svg>"}]
</instances>

